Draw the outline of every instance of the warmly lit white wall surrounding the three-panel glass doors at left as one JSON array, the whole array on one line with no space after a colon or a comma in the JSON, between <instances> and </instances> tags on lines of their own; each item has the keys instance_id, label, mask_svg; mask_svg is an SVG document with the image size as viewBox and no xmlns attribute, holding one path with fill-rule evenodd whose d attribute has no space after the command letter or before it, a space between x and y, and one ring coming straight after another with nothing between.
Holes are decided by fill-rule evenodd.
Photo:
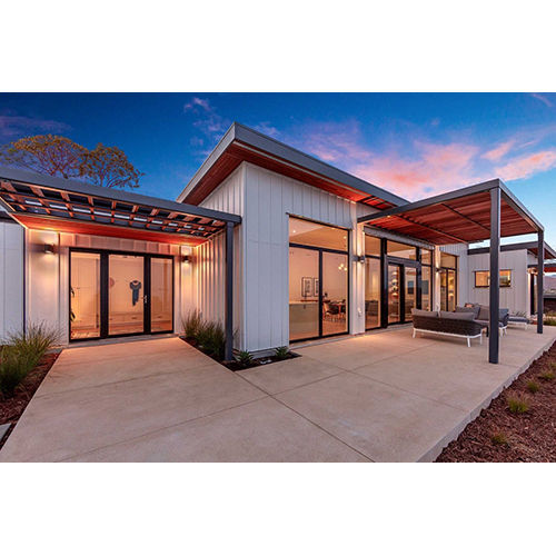
<instances>
[{"instance_id":1,"label":"warmly lit white wall surrounding the three-panel glass doors at left","mask_svg":"<svg viewBox=\"0 0 556 556\"><path fill-rule=\"evenodd\" d=\"M54 246L54 254L44 252L44 244ZM26 230L27 295L26 314L29 322L46 322L69 341L69 248L109 249L137 254L172 255L175 258L173 329L180 331L182 291L188 291L188 274L180 260L179 246L56 231ZM182 248L183 249L183 248Z\"/></svg>"}]
</instances>

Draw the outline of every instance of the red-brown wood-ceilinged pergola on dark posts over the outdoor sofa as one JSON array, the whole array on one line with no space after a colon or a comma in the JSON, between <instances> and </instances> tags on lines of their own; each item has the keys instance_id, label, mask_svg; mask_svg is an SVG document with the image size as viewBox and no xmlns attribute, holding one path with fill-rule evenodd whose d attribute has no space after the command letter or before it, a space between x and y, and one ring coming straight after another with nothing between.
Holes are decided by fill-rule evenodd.
<instances>
[{"instance_id":1,"label":"red-brown wood-ceilinged pergola on dark posts over the outdoor sofa","mask_svg":"<svg viewBox=\"0 0 556 556\"><path fill-rule=\"evenodd\" d=\"M364 216L359 224L441 246L490 240L488 360L499 360L500 237L537 235L537 332L543 334L544 227L499 179ZM496 331L496 332L495 332Z\"/></svg>"}]
</instances>

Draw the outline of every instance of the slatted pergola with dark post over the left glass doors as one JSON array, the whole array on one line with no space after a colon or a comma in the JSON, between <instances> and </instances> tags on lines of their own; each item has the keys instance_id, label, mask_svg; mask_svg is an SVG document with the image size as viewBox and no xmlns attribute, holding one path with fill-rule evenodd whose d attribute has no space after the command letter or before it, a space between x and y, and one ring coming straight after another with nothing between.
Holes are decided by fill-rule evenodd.
<instances>
[{"instance_id":1,"label":"slatted pergola with dark post over the left glass doors","mask_svg":"<svg viewBox=\"0 0 556 556\"><path fill-rule=\"evenodd\" d=\"M185 202L0 167L0 205L24 228L198 246L226 237L226 358L234 342L234 227L241 217Z\"/></svg>"}]
</instances>

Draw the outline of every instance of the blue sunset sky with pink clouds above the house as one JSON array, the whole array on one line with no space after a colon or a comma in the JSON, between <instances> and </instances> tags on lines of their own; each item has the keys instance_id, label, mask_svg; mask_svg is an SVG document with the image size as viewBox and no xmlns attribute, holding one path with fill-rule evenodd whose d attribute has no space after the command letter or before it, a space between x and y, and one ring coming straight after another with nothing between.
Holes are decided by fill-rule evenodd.
<instances>
[{"instance_id":1,"label":"blue sunset sky with pink clouds above the house","mask_svg":"<svg viewBox=\"0 0 556 556\"><path fill-rule=\"evenodd\" d=\"M170 199L234 120L411 200L499 177L556 246L556 95L0 95L0 142L118 146Z\"/></svg>"}]
</instances>

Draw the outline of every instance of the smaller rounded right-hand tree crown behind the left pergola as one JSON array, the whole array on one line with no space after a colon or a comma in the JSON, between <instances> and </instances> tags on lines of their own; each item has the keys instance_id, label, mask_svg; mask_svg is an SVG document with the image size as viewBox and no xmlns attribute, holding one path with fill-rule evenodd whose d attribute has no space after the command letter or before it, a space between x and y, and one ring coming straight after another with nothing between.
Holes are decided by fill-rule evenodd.
<instances>
[{"instance_id":1,"label":"smaller rounded right-hand tree crown behind the left pergola","mask_svg":"<svg viewBox=\"0 0 556 556\"><path fill-rule=\"evenodd\" d=\"M133 167L118 147L98 143L93 150L83 153L81 176L96 186L123 189L139 187L139 178L143 173Z\"/></svg>"}]
</instances>

